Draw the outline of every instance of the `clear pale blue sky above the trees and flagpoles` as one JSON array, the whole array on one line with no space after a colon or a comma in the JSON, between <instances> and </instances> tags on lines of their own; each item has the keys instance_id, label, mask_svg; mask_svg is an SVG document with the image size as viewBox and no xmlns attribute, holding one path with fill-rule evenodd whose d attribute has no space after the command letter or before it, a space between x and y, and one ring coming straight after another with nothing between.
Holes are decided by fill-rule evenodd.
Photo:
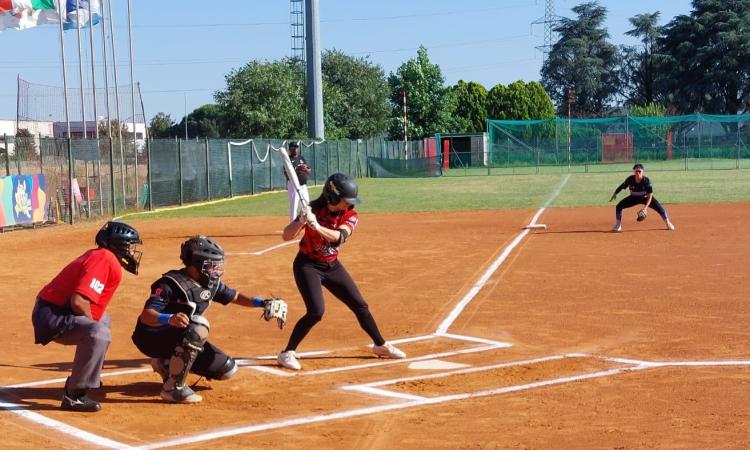
<instances>
[{"instance_id":1,"label":"clear pale blue sky above the trees and flagpoles","mask_svg":"<svg viewBox=\"0 0 750 450\"><path fill-rule=\"evenodd\" d=\"M119 84L130 83L126 0L111 0ZM130 0L134 74L140 82L146 116L165 112L178 122L185 111L213 102L225 88L225 76L252 60L291 56L289 0ZM555 0L558 16L573 18L581 0ZM600 0L614 44L637 44L625 36L628 18L661 12L661 24L689 14L690 0ZM446 84L476 81L487 89L498 83L539 80L545 0L319 0L323 49L366 57L386 76L410 58L420 45L440 66ZM95 59L101 63L101 31L95 27ZM88 35L82 34L84 57ZM109 36L107 37L109 39ZM16 117L16 79L62 86L59 29L56 25L0 32L0 119ZM110 49L111 51L111 49ZM68 86L78 87L76 32L65 34ZM111 56L110 56L111 57ZM110 64L110 79L112 65ZM91 68L84 68L91 83ZM103 85L103 67L96 69ZM110 83L112 83L110 81ZM74 112L71 112L74 114ZM101 114L101 112L100 112ZM71 120L79 120L72 117Z\"/></svg>"}]
</instances>

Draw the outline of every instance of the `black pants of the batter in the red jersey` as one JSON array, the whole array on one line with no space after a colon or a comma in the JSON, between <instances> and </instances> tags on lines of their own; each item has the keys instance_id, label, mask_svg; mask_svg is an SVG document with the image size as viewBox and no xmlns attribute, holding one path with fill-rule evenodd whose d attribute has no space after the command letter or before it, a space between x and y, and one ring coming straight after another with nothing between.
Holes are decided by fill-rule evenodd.
<instances>
[{"instance_id":1,"label":"black pants of the batter in the red jersey","mask_svg":"<svg viewBox=\"0 0 750 450\"><path fill-rule=\"evenodd\" d=\"M341 300L357 317L359 326L370 336L375 345L383 345L385 339L380 335L375 319L370 313L364 297L354 284L349 272L337 260L332 263L313 261L303 253L298 253L292 266L294 281L297 283L305 302L307 312L294 325L292 335L284 351L296 350L307 336L307 333L320 322L325 312L323 287Z\"/></svg>"}]
</instances>

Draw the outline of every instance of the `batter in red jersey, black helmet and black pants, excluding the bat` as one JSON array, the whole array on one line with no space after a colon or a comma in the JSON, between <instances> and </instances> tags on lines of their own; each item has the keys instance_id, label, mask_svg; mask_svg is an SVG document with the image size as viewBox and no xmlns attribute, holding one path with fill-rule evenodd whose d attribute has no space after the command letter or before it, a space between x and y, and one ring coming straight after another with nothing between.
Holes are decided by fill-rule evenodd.
<instances>
[{"instance_id":1,"label":"batter in red jersey, black helmet and black pants, excluding the bat","mask_svg":"<svg viewBox=\"0 0 750 450\"><path fill-rule=\"evenodd\" d=\"M359 204L356 182L342 173L328 177L320 197L284 228L282 237L292 240L304 230L293 271L307 312L292 330L289 342L277 361L282 367L300 370L296 350L312 327L323 317L323 286L341 300L372 338L373 353L381 358L404 358L406 354L383 339L367 302L354 280L338 260L338 253L357 226Z\"/></svg>"}]
</instances>

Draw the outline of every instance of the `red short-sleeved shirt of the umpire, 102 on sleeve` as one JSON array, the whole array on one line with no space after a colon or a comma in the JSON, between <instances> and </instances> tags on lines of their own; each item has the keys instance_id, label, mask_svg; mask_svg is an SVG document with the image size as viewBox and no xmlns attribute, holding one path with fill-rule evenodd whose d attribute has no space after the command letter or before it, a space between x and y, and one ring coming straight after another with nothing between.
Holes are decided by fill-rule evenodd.
<instances>
[{"instance_id":1,"label":"red short-sleeved shirt of the umpire, 102 on sleeve","mask_svg":"<svg viewBox=\"0 0 750 450\"><path fill-rule=\"evenodd\" d=\"M106 248L95 248L76 258L39 291L38 297L64 306L74 293L91 301L91 316L99 320L122 280L117 256Z\"/></svg>"}]
</instances>

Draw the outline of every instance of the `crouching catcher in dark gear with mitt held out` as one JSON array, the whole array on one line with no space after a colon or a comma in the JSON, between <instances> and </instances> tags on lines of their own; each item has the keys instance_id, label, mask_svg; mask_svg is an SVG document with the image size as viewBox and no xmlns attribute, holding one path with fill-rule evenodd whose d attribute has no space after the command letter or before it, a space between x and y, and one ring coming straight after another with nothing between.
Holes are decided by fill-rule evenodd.
<instances>
[{"instance_id":1,"label":"crouching catcher in dark gear with mitt held out","mask_svg":"<svg viewBox=\"0 0 750 450\"><path fill-rule=\"evenodd\" d=\"M203 398L186 385L189 372L214 380L227 380L237 372L234 359L207 340L210 325L205 313L211 302L262 307L262 317L276 319L279 328L286 322L287 304L277 298L250 298L222 283L224 250L208 237L183 242L180 259L185 267L165 273L151 285L133 342L151 357L151 367L161 376L162 399L198 403Z\"/></svg>"}]
</instances>

